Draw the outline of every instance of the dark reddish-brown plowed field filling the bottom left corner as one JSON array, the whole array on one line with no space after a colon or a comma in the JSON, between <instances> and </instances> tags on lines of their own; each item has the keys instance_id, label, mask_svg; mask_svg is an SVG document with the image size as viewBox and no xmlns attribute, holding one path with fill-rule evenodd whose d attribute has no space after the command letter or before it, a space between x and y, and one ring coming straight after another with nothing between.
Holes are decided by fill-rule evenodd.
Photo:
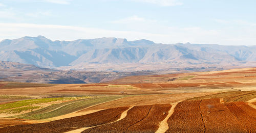
<instances>
[{"instance_id":1,"label":"dark reddish-brown plowed field filling the bottom left corner","mask_svg":"<svg viewBox=\"0 0 256 133\"><path fill-rule=\"evenodd\" d=\"M0 132L66 132L82 127L91 127L116 121L129 107L120 107L98 111L92 114L66 118L46 123L16 125L0 128Z\"/></svg>"}]
</instances>

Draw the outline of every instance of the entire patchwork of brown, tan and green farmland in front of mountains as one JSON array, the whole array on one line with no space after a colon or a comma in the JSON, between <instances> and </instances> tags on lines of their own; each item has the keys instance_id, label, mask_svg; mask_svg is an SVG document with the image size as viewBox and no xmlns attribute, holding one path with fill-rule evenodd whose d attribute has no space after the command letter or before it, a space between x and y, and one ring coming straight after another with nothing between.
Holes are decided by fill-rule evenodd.
<instances>
[{"instance_id":1,"label":"entire patchwork of brown, tan and green farmland in front of mountains","mask_svg":"<svg viewBox=\"0 0 256 133\"><path fill-rule=\"evenodd\" d=\"M256 132L256 68L0 84L0 132Z\"/></svg>"}]
</instances>

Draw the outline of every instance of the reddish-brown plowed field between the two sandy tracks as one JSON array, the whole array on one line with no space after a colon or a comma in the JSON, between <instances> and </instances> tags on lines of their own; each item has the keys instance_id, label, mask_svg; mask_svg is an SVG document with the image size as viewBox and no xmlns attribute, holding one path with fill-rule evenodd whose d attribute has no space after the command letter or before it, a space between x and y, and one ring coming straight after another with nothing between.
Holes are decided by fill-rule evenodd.
<instances>
[{"instance_id":1,"label":"reddish-brown plowed field between the two sandy tracks","mask_svg":"<svg viewBox=\"0 0 256 133\"><path fill-rule=\"evenodd\" d=\"M120 121L90 128L83 132L155 132L171 107L170 104L136 106L128 111L127 116Z\"/></svg>"}]
</instances>

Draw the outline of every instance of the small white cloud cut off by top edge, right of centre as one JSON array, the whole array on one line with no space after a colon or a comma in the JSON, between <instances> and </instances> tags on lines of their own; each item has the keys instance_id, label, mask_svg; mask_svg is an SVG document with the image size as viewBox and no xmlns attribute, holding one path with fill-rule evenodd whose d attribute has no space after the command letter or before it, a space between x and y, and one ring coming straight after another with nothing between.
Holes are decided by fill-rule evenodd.
<instances>
[{"instance_id":1,"label":"small white cloud cut off by top edge, right of centre","mask_svg":"<svg viewBox=\"0 0 256 133\"><path fill-rule=\"evenodd\" d=\"M183 5L183 3L179 2L179 0L132 0L132 1L156 4L163 7Z\"/></svg>"}]
</instances>

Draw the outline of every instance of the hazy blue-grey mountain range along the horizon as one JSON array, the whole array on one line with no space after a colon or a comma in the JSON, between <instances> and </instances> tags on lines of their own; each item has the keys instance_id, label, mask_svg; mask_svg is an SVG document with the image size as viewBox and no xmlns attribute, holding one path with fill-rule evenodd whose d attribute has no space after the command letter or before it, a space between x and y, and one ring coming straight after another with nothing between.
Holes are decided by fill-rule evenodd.
<instances>
[{"instance_id":1,"label":"hazy blue-grey mountain range along the horizon","mask_svg":"<svg viewBox=\"0 0 256 133\"><path fill-rule=\"evenodd\" d=\"M0 61L33 64L39 67L90 70L115 70L113 66L137 64L151 69L195 65L241 65L256 61L256 46L217 44L156 44L149 40L120 38L51 41L43 36L23 37L0 42ZM148 67L142 67L147 65ZM137 70L131 65L129 70ZM151 67L152 66L152 67ZM97 69L96 69L97 68ZM102 69L99 69L102 68ZM156 69L156 68L154 68ZM159 67L159 69L161 69ZM120 70L120 69L119 69Z\"/></svg>"}]
</instances>

